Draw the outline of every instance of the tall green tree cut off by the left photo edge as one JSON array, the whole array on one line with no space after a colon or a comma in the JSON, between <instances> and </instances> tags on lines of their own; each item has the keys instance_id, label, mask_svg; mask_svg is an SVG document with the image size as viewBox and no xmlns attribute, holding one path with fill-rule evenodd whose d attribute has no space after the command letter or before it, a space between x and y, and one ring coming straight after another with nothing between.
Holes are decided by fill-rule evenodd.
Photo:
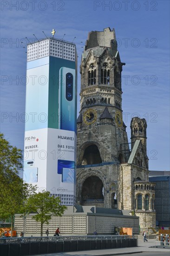
<instances>
[{"instance_id":1,"label":"tall green tree cut off by the left photo edge","mask_svg":"<svg viewBox=\"0 0 170 256\"><path fill-rule=\"evenodd\" d=\"M25 211L24 202L36 189L20 178L21 168L21 150L11 146L4 135L0 134L0 219L10 217L11 230L14 214Z\"/></svg>"}]
</instances>

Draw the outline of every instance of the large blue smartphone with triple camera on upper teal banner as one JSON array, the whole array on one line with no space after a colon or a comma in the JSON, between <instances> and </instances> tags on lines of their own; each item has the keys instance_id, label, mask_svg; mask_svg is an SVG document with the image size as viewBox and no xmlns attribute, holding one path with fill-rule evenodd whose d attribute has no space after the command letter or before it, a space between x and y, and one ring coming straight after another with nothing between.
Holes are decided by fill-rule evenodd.
<instances>
[{"instance_id":1,"label":"large blue smartphone with triple camera on upper teal banner","mask_svg":"<svg viewBox=\"0 0 170 256\"><path fill-rule=\"evenodd\" d=\"M75 131L75 69L61 67L59 77L59 129Z\"/></svg>"}]
</instances>

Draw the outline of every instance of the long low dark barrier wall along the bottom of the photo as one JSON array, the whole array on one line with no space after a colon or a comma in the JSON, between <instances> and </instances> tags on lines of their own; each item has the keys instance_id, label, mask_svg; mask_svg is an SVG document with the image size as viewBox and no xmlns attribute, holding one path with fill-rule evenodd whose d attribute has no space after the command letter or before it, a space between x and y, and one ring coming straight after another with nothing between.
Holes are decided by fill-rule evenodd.
<instances>
[{"instance_id":1,"label":"long low dark barrier wall along the bottom of the photo","mask_svg":"<svg viewBox=\"0 0 170 256\"><path fill-rule=\"evenodd\" d=\"M5 242L5 240L4 240ZM70 241L45 241L30 243L2 243L0 241L0 255L3 256L26 256L44 253L69 252L78 250L95 250L95 249L111 249L123 247L136 247L137 238L126 238L118 236L118 238L92 240L70 240Z\"/></svg>"}]
</instances>

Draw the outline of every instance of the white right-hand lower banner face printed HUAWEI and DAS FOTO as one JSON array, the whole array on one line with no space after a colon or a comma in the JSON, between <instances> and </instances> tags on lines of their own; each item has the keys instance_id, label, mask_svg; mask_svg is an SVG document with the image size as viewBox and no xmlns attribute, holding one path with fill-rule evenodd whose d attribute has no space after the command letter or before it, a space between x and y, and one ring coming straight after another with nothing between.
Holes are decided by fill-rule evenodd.
<instances>
[{"instance_id":1,"label":"white right-hand lower banner face printed HUAWEI and DAS FOTO","mask_svg":"<svg viewBox=\"0 0 170 256\"><path fill-rule=\"evenodd\" d=\"M47 188L60 195L63 204L72 205L76 198L75 132L48 128L47 149Z\"/></svg>"}]
</instances>

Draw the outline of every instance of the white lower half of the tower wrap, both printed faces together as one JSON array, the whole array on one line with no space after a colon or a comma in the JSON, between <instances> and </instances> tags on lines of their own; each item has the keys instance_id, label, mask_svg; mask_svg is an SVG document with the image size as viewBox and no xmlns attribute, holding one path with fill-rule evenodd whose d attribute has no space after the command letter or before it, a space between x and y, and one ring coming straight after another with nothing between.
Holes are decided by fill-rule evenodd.
<instances>
[{"instance_id":1,"label":"white lower half of the tower wrap, both printed faces together","mask_svg":"<svg viewBox=\"0 0 170 256\"><path fill-rule=\"evenodd\" d=\"M72 205L76 186L76 136L72 131L45 128L25 136L24 181L37 184Z\"/></svg>"}]
</instances>

